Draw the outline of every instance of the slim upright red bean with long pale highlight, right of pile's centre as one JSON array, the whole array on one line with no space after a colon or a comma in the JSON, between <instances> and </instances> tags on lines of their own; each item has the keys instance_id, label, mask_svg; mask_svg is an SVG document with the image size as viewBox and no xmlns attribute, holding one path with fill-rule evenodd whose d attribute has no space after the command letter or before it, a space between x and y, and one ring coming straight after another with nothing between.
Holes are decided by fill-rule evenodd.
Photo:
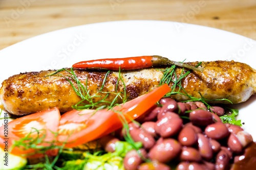
<instances>
[{"instance_id":1,"label":"slim upright red bean with long pale highlight, right of pile's centre","mask_svg":"<svg viewBox=\"0 0 256 170\"><path fill-rule=\"evenodd\" d=\"M213 157L213 151L209 139L203 134L198 134L198 148L200 155L205 160L210 160Z\"/></svg>"}]
</instances>

